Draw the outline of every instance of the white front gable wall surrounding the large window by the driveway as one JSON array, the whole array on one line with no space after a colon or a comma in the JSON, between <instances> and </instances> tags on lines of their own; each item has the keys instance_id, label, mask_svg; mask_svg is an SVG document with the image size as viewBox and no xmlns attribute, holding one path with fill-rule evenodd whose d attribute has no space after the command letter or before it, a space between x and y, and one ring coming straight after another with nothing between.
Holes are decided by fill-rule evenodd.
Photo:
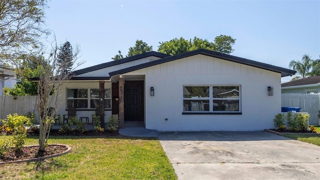
<instances>
[{"instance_id":1,"label":"white front gable wall surrounding the large window by the driveway","mask_svg":"<svg viewBox=\"0 0 320 180\"><path fill-rule=\"evenodd\" d=\"M142 68L145 127L170 130L263 130L281 112L281 74L201 54ZM240 115L182 114L183 85L240 85ZM154 87L154 96L149 89ZM272 96L267 87L273 87ZM167 120L165 120L167 118Z\"/></svg>"}]
</instances>

